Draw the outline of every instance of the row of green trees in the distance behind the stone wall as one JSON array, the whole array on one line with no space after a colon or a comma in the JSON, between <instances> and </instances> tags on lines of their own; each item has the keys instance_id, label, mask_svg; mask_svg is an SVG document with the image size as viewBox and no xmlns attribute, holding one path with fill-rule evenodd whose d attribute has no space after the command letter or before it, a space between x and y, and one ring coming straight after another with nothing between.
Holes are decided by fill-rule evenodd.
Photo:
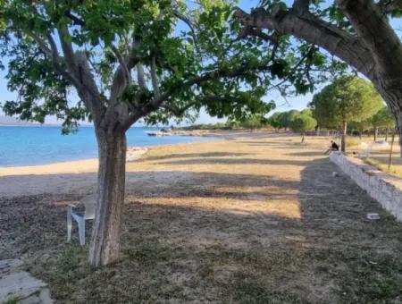
<instances>
[{"instance_id":1,"label":"row of green trees in the distance behind the stone wall","mask_svg":"<svg viewBox=\"0 0 402 304\"><path fill-rule=\"evenodd\" d=\"M374 140L384 131L396 128L394 116L373 85L355 75L344 75L315 94L303 111L290 110L272 114L268 122L277 131L291 130L304 135L307 131L337 131L341 135L341 150L346 151L347 134L362 137L373 132ZM304 136L303 136L304 138ZM304 140L304 139L302 139Z\"/></svg>"}]
</instances>

